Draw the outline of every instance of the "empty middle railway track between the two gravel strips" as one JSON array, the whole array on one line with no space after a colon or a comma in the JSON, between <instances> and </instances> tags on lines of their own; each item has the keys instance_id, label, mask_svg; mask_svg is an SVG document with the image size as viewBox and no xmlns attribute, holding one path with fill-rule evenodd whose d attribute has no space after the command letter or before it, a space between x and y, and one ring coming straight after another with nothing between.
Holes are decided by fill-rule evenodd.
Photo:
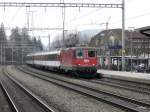
<instances>
[{"instance_id":1,"label":"empty middle railway track between the two gravel strips","mask_svg":"<svg viewBox=\"0 0 150 112\"><path fill-rule=\"evenodd\" d=\"M86 85L80 85L77 83L69 82L69 81L60 79L58 77L56 78L54 76L47 76L45 74L41 75L40 73L37 73L37 72L35 73L33 71L25 70L25 68L22 69L19 67L18 69L24 73L36 76L42 80L71 89L81 94L88 95L97 100L107 102L109 104L115 105L127 111L131 111L131 112L149 112L150 111L150 104L145 103L145 102L127 98L124 96L119 96L117 94L109 93L107 91L97 90L96 88L91 88Z\"/></svg>"}]
</instances>

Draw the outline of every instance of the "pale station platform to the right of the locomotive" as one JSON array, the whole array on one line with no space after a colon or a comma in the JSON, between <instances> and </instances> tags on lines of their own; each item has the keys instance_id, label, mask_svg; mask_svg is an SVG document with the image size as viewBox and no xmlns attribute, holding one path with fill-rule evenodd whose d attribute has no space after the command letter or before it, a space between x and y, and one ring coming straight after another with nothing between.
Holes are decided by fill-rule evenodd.
<instances>
[{"instance_id":1,"label":"pale station platform to the right of the locomotive","mask_svg":"<svg viewBox=\"0 0 150 112\"><path fill-rule=\"evenodd\" d=\"M99 69L97 73L99 73L102 77L150 84L150 73L122 72L104 69Z\"/></svg>"}]
</instances>

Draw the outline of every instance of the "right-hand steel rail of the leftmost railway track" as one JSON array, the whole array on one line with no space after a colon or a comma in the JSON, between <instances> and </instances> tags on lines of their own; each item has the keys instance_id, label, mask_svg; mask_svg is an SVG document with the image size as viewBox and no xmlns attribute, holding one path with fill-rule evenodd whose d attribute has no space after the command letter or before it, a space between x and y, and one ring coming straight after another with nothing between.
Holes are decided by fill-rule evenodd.
<instances>
[{"instance_id":1,"label":"right-hand steel rail of the leftmost railway track","mask_svg":"<svg viewBox=\"0 0 150 112\"><path fill-rule=\"evenodd\" d=\"M39 99L33 92L31 92L29 89L23 86L20 82L14 79L8 71L4 71L4 73L9 79L11 79L15 84L17 84L17 86L19 86L26 94L28 94L33 100L35 100L37 104L39 104L41 108L43 108L46 112L56 112L54 108L48 106L41 99Z\"/></svg>"}]
</instances>

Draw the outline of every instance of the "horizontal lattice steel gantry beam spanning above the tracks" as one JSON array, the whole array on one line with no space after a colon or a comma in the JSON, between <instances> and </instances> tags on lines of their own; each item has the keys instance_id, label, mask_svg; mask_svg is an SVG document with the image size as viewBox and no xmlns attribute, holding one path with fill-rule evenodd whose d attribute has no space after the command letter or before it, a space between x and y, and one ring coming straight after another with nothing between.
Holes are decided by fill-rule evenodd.
<instances>
[{"instance_id":1,"label":"horizontal lattice steel gantry beam spanning above the tracks","mask_svg":"<svg viewBox=\"0 0 150 112\"><path fill-rule=\"evenodd\" d=\"M0 7L87 7L87 8L91 7L91 8L123 8L123 4L0 2Z\"/></svg>"}]
</instances>

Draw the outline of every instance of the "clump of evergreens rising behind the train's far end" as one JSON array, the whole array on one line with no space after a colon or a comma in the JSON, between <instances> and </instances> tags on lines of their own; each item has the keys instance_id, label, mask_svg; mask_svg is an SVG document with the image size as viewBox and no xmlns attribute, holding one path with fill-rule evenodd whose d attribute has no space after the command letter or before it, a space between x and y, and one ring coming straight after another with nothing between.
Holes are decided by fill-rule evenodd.
<instances>
[{"instance_id":1,"label":"clump of evergreens rising behind the train's far end","mask_svg":"<svg viewBox=\"0 0 150 112\"><path fill-rule=\"evenodd\" d=\"M13 50L14 64L24 64L28 53L43 50L41 40L35 37L31 39L27 28L19 29L18 27L11 30L10 43Z\"/></svg>"}]
</instances>

